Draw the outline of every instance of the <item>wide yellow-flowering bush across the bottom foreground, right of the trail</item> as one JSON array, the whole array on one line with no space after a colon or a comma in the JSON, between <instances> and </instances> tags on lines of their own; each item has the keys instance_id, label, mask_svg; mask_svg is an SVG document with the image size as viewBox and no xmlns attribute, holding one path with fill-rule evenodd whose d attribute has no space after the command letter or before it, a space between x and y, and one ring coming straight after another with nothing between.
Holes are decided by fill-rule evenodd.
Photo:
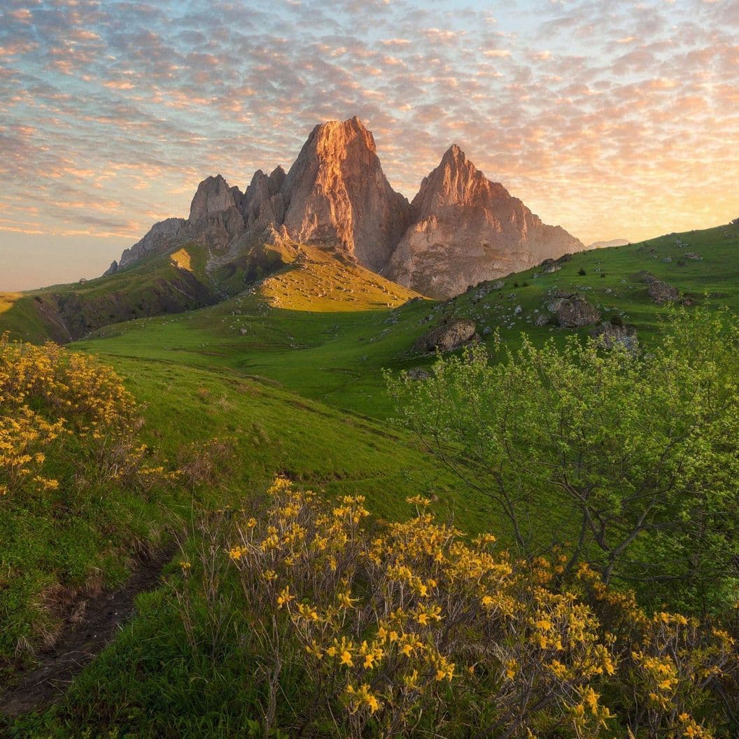
<instances>
[{"instance_id":1,"label":"wide yellow-flowering bush across the bottom foreground, right of the trail","mask_svg":"<svg viewBox=\"0 0 739 739\"><path fill-rule=\"evenodd\" d=\"M560 565L516 561L490 535L469 542L422 498L409 521L372 526L360 496L332 505L283 477L268 493L259 514L222 521L219 560L243 593L265 736L277 724L349 737L720 735L717 696L737 666L727 633L650 619L588 568L557 590ZM234 590L214 552L202 586L222 613ZM278 717L296 670L301 698Z\"/></svg>"}]
</instances>

